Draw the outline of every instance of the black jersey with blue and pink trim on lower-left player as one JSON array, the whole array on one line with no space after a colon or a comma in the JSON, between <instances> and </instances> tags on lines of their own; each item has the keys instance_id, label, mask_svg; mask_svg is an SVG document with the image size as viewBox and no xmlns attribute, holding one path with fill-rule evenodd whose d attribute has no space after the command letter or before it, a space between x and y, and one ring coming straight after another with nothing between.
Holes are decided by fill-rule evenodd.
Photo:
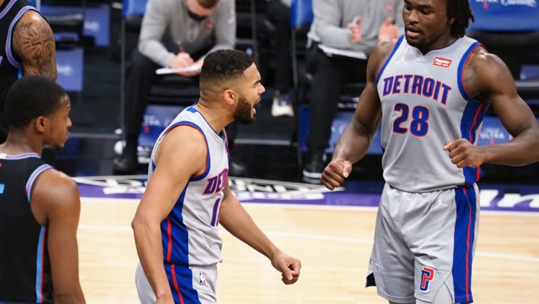
<instances>
[{"instance_id":1,"label":"black jersey with blue and pink trim on lower-left player","mask_svg":"<svg viewBox=\"0 0 539 304\"><path fill-rule=\"evenodd\" d=\"M37 153L0 153L0 303L52 303L47 228L31 211L34 182L52 168Z\"/></svg>"}]
</instances>

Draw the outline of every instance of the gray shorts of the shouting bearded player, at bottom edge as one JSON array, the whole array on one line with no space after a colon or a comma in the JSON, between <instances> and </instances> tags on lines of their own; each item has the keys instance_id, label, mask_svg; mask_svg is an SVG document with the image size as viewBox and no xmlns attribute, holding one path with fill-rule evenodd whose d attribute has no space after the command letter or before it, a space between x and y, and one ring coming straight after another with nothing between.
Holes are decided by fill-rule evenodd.
<instances>
[{"instance_id":1,"label":"gray shorts of the shouting bearded player, at bottom edge","mask_svg":"<svg viewBox=\"0 0 539 304\"><path fill-rule=\"evenodd\" d=\"M215 296L217 266L185 267L165 264L165 272L174 303L217 303L217 297ZM155 293L140 263L137 265L135 283L141 304L153 304L156 302Z\"/></svg>"}]
</instances>

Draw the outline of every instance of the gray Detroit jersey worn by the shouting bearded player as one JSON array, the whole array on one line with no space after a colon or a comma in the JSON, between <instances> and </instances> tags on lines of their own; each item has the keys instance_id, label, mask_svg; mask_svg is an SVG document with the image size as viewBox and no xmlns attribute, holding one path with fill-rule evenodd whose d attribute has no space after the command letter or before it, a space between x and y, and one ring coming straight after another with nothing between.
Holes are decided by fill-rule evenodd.
<instances>
[{"instance_id":1,"label":"gray Detroit jersey worn by the shouting bearded player","mask_svg":"<svg viewBox=\"0 0 539 304\"><path fill-rule=\"evenodd\" d=\"M228 146L224 130L217 134L200 112L192 106L187 107L157 138L148 179L156 168L155 151L163 136L181 125L193 127L204 136L206 170L189 178L172 211L161 223L164 262L181 266L211 266L222 261L218 224L224 196L222 190L228 182Z\"/></svg>"}]
</instances>

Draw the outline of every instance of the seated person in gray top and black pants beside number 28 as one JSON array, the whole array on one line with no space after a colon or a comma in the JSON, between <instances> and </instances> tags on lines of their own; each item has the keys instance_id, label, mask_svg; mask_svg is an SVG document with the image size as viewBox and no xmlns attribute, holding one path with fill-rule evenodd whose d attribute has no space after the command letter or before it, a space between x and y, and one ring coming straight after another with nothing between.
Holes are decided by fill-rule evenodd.
<instances>
[{"instance_id":1,"label":"seated person in gray top and black pants beside number 28","mask_svg":"<svg viewBox=\"0 0 539 304\"><path fill-rule=\"evenodd\" d=\"M307 70L313 78L305 181L319 183L326 166L324 150L329 145L342 85L364 82L367 58L376 43L404 33L403 5L402 0L313 0L315 17L308 33Z\"/></svg>"}]
</instances>

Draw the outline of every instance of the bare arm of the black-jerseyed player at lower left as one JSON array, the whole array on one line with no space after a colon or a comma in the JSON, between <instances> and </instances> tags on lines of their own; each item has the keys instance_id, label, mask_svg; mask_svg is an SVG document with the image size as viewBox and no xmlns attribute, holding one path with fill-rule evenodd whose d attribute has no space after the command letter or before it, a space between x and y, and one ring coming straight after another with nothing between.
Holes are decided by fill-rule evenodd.
<instances>
[{"instance_id":1,"label":"bare arm of the black-jerseyed player at lower left","mask_svg":"<svg viewBox=\"0 0 539 304\"><path fill-rule=\"evenodd\" d=\"M54 302L86 303L79 282L81 201L77 184L57 170L46 170L35 183L30 205L38 223L47 227Z\"/></svg>"}]
</instances>

